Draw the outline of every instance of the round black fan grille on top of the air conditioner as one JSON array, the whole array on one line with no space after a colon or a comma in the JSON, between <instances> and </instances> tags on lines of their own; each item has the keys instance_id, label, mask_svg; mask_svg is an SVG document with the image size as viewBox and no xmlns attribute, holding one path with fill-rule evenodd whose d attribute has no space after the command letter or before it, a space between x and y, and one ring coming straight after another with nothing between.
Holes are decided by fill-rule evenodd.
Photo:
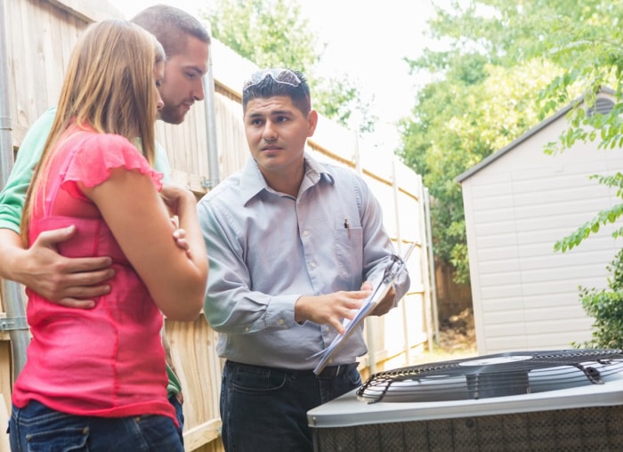
<instances>
[{"instance_id":1,"label":"round black fan grille on top of the air conditioner","mask_svg":"<svg viewBox=\"0 0 623 452\"><path fill-rule=\"evenodd\" d=\"M357 395L368 402L485 399L601 384L621 371L620 350L512 351L380 372Z\"/></svg>"}]
</instances>

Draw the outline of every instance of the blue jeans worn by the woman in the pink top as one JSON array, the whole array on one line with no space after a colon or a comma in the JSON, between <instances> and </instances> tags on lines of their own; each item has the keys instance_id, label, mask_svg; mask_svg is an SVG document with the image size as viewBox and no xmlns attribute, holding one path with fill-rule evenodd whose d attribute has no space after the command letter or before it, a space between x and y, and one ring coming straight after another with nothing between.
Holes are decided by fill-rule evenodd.
<instances>
[{"instance_id":1,"label":"blue jeans worn by the woman in the pink top","mask_svg":"<svg viewBox=\"0 0 623 452\"><path fill-rule=\"evenodd\" d=\"M183 452L180 433L166 416L73 416L30 401L12 408L12 452Z\"/></svg>"}]
</instances>

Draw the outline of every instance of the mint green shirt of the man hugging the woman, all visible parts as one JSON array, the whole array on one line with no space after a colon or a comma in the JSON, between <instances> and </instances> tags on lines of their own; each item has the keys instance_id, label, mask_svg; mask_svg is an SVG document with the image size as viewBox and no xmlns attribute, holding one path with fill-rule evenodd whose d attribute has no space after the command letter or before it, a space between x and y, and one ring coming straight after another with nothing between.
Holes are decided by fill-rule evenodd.
<instances>
[{"instance_id":1,"label":"mint green shirt of the man hugging the woman, all visible parts","mask_svg":"<svg viewBox=\"0 0 623 452\"><path fill-rule=\"evenodd\" d=\"M56 108L48 109L38 117L21 142L20 151L17 153L15 165L13 165L9 180L0 192L0 229L12 230L20 233L21 211L24 208L28 185L35 172L36 163L44 152L45 140L52 129ZM163 182L170 181L171 168L165 149L158 143L156 145L156 170L164 174ZM167 391L169 397L182 391L180 382L174 372L166 366L169 375Z\"/></svg>"}]
</instances>

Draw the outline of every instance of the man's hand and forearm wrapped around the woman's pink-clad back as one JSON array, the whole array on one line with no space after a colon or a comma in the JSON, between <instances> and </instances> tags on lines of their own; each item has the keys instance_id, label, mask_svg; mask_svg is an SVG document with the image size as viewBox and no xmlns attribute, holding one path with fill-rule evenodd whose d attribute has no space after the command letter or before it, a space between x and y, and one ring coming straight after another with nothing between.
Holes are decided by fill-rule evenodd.
<instances>
[{"instance_id":1,"label":"man's hand and forearm wrapped around the woman's pink-clad back","mask_svg":"<svg viewBox=\"0 0 623 452\"><path fill-rule=\"evenodd\" d=\"M12 236L8 236L12 234ZM115 274L109 257L69 258L61 256L56 244L72 238L76 227L42 232L27 250L21 247L19 236L12 230L0 230L3 241L3 273L7 278L34 290L53 303L71 308L90 309L94 299L108 294L110 286L104 281ZM7 238L5 240L5 238Z\"/></svg>"}]
</instances>

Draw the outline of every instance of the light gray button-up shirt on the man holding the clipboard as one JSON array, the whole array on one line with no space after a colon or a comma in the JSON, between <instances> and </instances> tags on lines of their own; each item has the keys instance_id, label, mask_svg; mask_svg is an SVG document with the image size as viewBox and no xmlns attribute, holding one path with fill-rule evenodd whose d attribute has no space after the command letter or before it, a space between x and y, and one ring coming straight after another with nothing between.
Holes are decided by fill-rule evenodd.
<instances>
[{"instance_id":1,"label":"light gray button-up shirt on the man holding the clipboard","mask_svg":"<svg viewBox=\"0 0 623 452\"><path fill-rule=\"evenodd\" d=\"M333 327L295 322L296 300L360 290L376 280L394 252L381 208L351 169L305 155L297 198L272 190L255 161L198 203L210 270L206 319L221 333L219 356L244 364L312 369L336 337ZM396 300L409 289L406 271ZM366 353L360 331L332 364Z\"/></svg>"}]
</instances>

